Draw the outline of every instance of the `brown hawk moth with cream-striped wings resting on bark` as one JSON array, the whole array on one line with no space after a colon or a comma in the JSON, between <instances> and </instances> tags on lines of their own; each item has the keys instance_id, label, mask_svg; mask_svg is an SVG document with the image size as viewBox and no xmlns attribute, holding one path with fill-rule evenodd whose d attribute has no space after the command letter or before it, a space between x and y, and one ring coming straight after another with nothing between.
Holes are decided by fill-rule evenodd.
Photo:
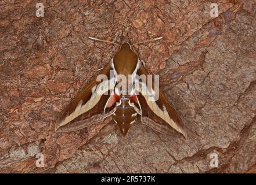
<instances>
[{"instance_id":1,"label":"brown hawk moth with cream-striped wings resting on bark","mask_svg":"<svg viewBox=\"0 0 256 185\"><path fill-rule=\"evenodd\" d=\"M114 44L118 45L117 43ZM145 66L132 49L133 45L126 42L118 46L120 46L120 49L109 64L100 69L98 73L98 76L103 75L106 78L104 80L92 79L92 82L68 103L60 113L55 131L77 131L111 117L124 136L127 135L131 125L136 120L140 120L141 123L163 134L170 134L170 131L175 129L186 138L185 125L174 106L167 100L163 92L154 86L154 82L152 82L150 88L148 87L147 78L149 73L147 73ZM131 80L122 83L121 80L118 80L118 75ZM146 76L146 82L138 79L140 75ZM118 88L121 83L126 84L129 87L128 90ZM146 87L147 93L143 93L141 87ZM158 98L154 99L156 92L158 92ZM150 100L152 97L153 101Z\"/></svg>"}]
</instances>

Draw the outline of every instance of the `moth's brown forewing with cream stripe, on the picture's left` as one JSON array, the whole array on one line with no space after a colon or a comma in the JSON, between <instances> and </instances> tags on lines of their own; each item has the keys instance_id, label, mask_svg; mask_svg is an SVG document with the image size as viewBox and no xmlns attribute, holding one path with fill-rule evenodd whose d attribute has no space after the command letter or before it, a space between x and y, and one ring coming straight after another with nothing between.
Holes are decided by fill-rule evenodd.
<instances>
[{"instance_id":1,"label":"moth's brown forewing with cream stripe, on the picture's left","mask_svg":"<svg viewBox=\"0 0 256 185\"><path fill-rule=\"evenodd\" d=\"M110 107L106 104L113 98L114 77L110 79L111 65L106 65L98 75L106 75L107 80L97 82L96 78L60 113L55 125L56 132L77 131L91 124L99 123L104 117L110 116L116 110L113 103ZM106 93L107 92L107 93ZM113 101L113 99L111 99Z\"/></svg>"}]
</instances>

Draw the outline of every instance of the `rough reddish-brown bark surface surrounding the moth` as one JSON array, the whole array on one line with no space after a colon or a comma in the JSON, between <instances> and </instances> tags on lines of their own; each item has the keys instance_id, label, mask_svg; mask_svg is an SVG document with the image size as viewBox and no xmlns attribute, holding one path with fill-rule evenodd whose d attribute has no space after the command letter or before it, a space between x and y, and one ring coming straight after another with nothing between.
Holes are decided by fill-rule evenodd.
<instances>
[{"instance_id":1,"label":"rough reddish-brown bark surface surrounding the moth","mask_svg":"<svg viewBox=\"0 0 256 185\"><path fill-rule=\"evenodd\" d=\"M254 172L256 1L37 1L0 3L0 172ZM132 43L188 128L185 140L136 122L127 137L106 123L56 134L68 101ZM106 127L104 127L107 125ZM35 155L45 167L35 166ZM211 153L218 167L211 168Z\"/></svg>"}]
</instances>

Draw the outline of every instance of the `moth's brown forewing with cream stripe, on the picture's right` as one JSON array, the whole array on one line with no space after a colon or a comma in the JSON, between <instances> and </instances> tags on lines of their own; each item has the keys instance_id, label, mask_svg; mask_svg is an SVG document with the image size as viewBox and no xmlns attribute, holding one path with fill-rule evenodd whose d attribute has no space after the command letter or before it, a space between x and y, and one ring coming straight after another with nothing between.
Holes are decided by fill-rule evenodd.
<instances>
[{"instance_id":1,"label":"moth's brown forewing with cream stripe, on the picture's right","mask_svg":"<svg viewBox=\"0 0 256 185\"><path fill-rule=\"evenodd\" d=\"M140 65L137 74L148 75L146 69ZM165 98L163 92L157 87L148 89L147 93L142 93L141 86L143 82L135 80L135 83L139 83L139 86L135 86L135 91L141 108L141 121L143 124L155 129L158 132L169 134L170 130L174 128L176 131L181 133L186 138L186 128L183 124L181 117L174 109L174 106ZM140 88L138 88L140 87ZM159 92L159 98L152 101L152 95L155 92Z\"/></svg>"}]
</instances>

